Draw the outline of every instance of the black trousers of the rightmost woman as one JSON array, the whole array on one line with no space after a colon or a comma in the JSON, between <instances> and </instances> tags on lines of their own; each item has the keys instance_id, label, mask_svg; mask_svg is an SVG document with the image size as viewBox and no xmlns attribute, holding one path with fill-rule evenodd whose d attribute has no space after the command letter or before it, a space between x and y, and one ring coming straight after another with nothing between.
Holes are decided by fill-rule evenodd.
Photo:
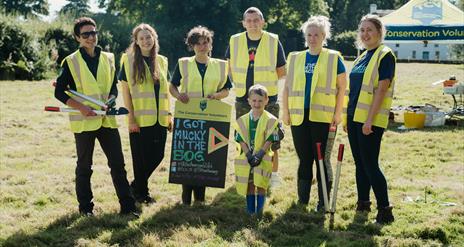
<instances>
[{"instance_id":1,"label":"black trousers of the rightmost woman","mask_svg":"<svg viewBox=\"0 0 464 247\"><path fill-rule=\"evenodd\" d=\"M372 188L377 199L377 207L385 208L390 205L387 180L379 166L380 144L384 129L372 126L373 133L364 135L362 126L362 123L353 122L353 116L348 116L348 139L356 165L358 201L369 201Z\"/></svg>"}]
</instances>

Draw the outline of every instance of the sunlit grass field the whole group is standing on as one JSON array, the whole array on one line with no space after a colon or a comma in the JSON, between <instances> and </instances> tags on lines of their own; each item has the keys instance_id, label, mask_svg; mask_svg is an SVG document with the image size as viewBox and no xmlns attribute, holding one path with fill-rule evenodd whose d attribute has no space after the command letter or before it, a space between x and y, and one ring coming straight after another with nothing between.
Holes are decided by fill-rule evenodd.
<instances>
[{"instance_id":1,"label":"sunlit grass field the whole group is standing on","mask_svg":"<svg viewBox=\"0 0 464 247\"><path fill-rule=\"evenodd\" d=\"M399 64L394 105L431 103L449 109L451 97L431 83L452 74L464 80L464 66ZM272 191L262 219L248 217L245 199L235 193L234 145L229 145L226 188L207 189L207 204L192 207L179 205L180 186L167 183L166 148L149 184L157 203L142 206L139 219L118 215L106 159L97 145L92 177L96 216L87 218L77 214L75 146L67 116L43 112L45 105L59 105L50 83L2 81L0 102L0 246L464 246L462 125L410 131L399 131L401 123L389 126L380 160L396 221L383 227L372 223L376 212L355 214L349 147L334 221L314 212L315 185L310 206L295 205L298 161L288 128L280 155L283 184ZM119 123L131 180L127 126L123 118ZM339 131L337 143L347 142Z\"/></svg>"}]
</instances>

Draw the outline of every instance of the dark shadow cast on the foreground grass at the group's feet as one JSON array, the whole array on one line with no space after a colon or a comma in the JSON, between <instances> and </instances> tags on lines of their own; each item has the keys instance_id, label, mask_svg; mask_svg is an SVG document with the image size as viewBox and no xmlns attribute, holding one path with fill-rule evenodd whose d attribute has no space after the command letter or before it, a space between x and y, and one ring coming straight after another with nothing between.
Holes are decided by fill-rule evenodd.
<instances>
[{"instance_id":1,"label":"dark shadow cast on the foreground grass at the group's feet","mask_svg":"<svg viewBox=\"0 0 464 247\"><path fill-rule=\"evenodd\" d=\"M269 205L267 204L267 207ZM134 220L117 214L96 217L64 216L34 233L18 232L5 240L4 246L75 246L105 243L121 246L142 242L147 234L161 241L169 240L183 228L213 229L228 242L260 241L270 246L374 246L380 228L365 224L355 216L348 226L325 226L329 215L308 212L306 207L291 205L283 214L266 212L262 218L245 212L245 198L234 187L219 193L210 205L167 205L148 219ZM327 221L326 221L327 220ZM245 236L251 232L250 236ZM251 244L251 243L250 243Z\"/></svg>"}]
</instances>

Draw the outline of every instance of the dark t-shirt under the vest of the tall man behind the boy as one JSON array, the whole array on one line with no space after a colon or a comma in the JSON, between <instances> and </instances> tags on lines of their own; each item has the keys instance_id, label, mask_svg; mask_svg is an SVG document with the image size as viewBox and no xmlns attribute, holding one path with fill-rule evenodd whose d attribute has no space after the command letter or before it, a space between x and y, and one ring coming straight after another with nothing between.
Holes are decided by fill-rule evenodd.
<instances>
[{"instance_id":1,"label":"dark t-shirt under the vest of the tall man behind the boy","mask_svg":"<svg viewBox=\"0 0 464 247\"><path fill-rule=\"evenodd\" d=\"M245 90L245 95L243 97L237 97L237 101L242 101L242 102L247 102L248 99L248 89L253 86L254 82L254 65L255 65L255 56L256 56L256 50L258 49L259 40L251 40L248 38L248 33L246 33L247 37L247 46L248 46L248 71L247 71L247 77L246 77L246 90ZM227 47L226 50L226 58L230 59L230 47ZM285 52L284 48L282 46L282 43L278 43L277 46L277 65L276 68L282 67L286 64L285 61ZM273 103L277 101L277 95L272 95L269 96L269 102Z\"/></svg>"}]
</instances>

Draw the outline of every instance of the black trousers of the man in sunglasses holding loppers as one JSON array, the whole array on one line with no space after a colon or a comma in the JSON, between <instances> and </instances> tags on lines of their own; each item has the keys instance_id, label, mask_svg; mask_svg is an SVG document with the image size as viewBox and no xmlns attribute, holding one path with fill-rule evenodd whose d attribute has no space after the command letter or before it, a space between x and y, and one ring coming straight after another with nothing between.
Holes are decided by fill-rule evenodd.
<instances>
[{"instance_id":1,"label":"black trousers of the man in sunglasses holding loppers","mask_svg":"<svg viewBox=\"0 0 464 247\"><path fill-rule=\"evenodd\" d=\"M90 177L93 173L92 163L95 139L98 139L108 159L108 166L111 170L111 178L119 198L121 211L134 210L134 198L129 190L118 129L101 127L95 131L74 133L74 137L77 151L76 195L79 202L79 211L89 212L92 211L94 206Z\"/></svg>"}]
</instances>

